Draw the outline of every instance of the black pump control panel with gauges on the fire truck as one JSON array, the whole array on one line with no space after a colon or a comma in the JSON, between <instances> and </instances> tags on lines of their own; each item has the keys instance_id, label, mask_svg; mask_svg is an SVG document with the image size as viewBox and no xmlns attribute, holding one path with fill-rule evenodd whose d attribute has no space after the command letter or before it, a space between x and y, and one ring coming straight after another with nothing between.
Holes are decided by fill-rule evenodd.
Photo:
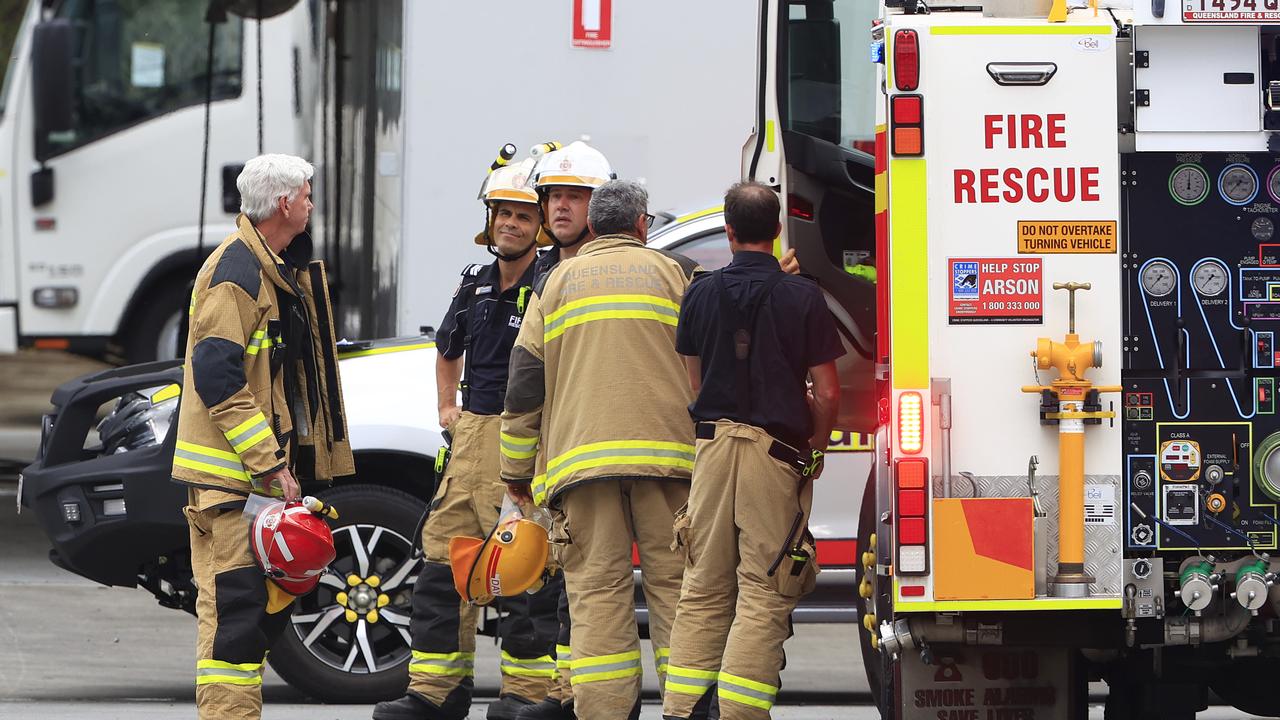
<instances>
[{"instance_id":1,"label":"black pump control panel with gauges on the fire truck","mask_svg":"<svg viewBox=\"0 0 1280 720\"><path fill-rule=\"evenodd\" d=\"M1272 551L1280 163L1142 152L1123 182L1126 543Z\"/></svg>"}]
</instances>

